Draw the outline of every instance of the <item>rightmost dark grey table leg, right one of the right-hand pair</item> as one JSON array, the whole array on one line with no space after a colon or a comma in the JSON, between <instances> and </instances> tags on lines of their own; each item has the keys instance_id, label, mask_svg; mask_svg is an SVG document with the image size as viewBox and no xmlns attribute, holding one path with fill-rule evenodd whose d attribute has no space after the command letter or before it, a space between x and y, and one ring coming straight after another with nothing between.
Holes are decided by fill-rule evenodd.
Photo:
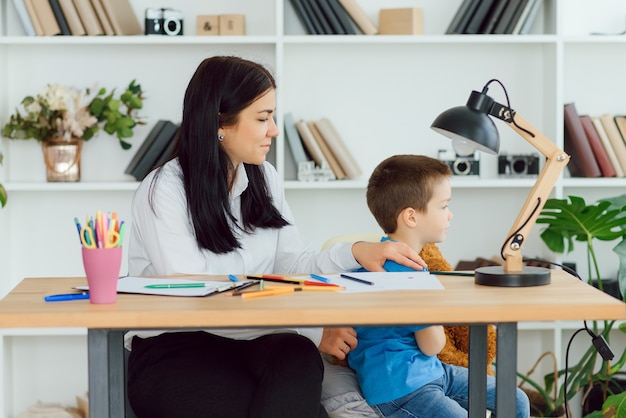
<instances>
[{"instance_id":1,"label":"rightmost dark grey table leg, right one of the right-hand pair","mask_svg":"<svg viewBox=\"0 0 626 418\"><path fill-rule=\"evenodd\" d=\"M496 324L496 411L498 416L514 417L517 387L517 323Z\"/></svg>"}]
</instances>

